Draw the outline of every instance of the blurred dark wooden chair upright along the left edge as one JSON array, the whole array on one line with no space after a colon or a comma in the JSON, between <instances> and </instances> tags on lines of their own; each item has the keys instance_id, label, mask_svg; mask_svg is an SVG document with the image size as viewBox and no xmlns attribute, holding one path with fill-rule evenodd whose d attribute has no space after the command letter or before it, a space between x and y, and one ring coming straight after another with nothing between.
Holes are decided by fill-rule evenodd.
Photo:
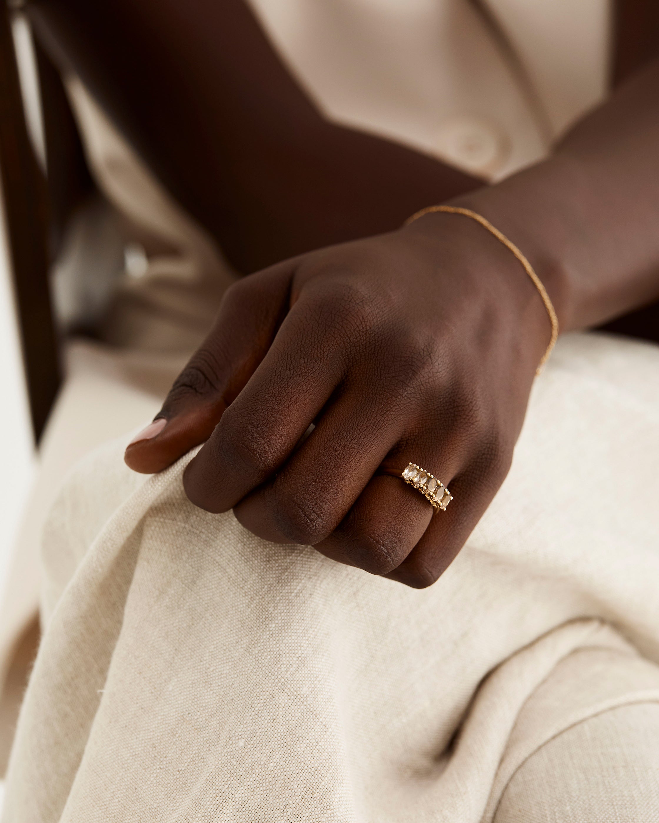
<instances>
[{"instance_id":1,"label":"blurred dark wooden chair upright along the left edge","mask_svg":"<svg viewBox=\"0 0 659 823\"><path fill-rule=\"evenodd\" d=\"M48 193L27 133L9 11L2 0L0 175L30 412L38 442L60 382L48 279Z\"/></svg>"}]
</instances>

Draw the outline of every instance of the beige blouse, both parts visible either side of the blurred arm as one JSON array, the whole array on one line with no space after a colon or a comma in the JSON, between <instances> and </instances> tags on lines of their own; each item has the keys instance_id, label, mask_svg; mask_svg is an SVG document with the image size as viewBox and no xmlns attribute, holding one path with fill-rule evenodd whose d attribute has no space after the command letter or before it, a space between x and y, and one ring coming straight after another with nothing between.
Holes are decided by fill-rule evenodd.
<instances>
[{"instance_id":1,"label":"beige blouse, both parts visible either side of the blurred arm","mask_svg":"<svg viewBox=\"0 0 659 823\"><path fill-rule=\"evenodd\" d=\"M485 179L540 160L605 95L610 0L249 2L328 118ZM97 184L147 252L108 342L190 351L231 272L82 83L68 89Z\"/></svg>"}]
</instances>

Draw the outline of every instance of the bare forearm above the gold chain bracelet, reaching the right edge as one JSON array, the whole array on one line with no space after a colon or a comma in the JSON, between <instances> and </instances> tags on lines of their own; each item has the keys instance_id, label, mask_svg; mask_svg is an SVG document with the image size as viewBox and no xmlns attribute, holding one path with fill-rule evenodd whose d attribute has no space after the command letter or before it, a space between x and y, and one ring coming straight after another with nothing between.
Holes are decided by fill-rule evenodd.
<instances>
[{"instance_id":1,"label":"bare forearm above the gold chain bracelet, reaching the right edge","mask_svg":"<svg viewBox=\"0 0 659 823\"><path fill-rule=\"evenodd\" d=\"M563 331L659 298L659 62L582 119L549 160L456 202L526 253Z\"/></svg>"}]
</instances>

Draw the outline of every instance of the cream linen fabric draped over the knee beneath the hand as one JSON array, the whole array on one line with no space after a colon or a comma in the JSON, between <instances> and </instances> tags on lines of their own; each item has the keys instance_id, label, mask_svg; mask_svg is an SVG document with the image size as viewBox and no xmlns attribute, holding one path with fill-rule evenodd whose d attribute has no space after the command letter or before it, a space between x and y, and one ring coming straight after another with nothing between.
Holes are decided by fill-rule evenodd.
<instances>
[{"instance_id":1,"label":"cream linen fabric draped over the knee beneath the hand","mask_svg":"<svg viewBox=\"0 0 659 823\"><path fill-rule=\"evenodd\" d=\"M656 718L657 374L655 346L564 338L509 477L423 591L195 509L189 457L147 479L123 441L88 458L45 531L4 823L533 820L529 781L553 802L566 753ZM535 819L656 820L644 751L604 756L616 791L646 770L643 816Z\"/></svg>"}]
</instances>

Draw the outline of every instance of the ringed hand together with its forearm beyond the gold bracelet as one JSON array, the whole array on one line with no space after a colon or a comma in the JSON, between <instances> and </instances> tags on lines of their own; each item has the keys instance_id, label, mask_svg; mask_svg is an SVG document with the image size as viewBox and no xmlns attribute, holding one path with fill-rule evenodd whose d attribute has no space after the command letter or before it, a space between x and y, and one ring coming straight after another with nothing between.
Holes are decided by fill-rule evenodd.
<instances>
[{"instance_id":1,"label":"ringed hand together with its forearm beyond the gold bracelet","mask_svg":"<svg viewBox=\"0 0 659 823\"><path fill-rule=\"evenodd\" d=\"M524 250L563 330L659 294L658 76L624 86L552 159L456 202ZM208 440L185 472L195 504L421 588L505 477L548 339L512 254L463 216L428 215L234 286L167 424L126 461L157 471ZM451 489L446 513L379 473L409 462Z\"/></svg>"}]
</instances>

